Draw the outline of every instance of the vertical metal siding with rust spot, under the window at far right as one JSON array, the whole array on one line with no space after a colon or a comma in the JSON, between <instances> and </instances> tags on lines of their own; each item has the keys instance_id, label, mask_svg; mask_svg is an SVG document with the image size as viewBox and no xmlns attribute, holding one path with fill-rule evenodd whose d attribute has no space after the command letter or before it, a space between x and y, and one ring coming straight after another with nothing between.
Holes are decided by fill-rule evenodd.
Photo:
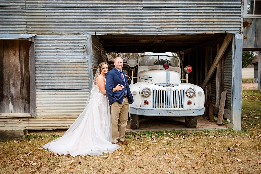
<instances>
[{"instance_id":1,"label":"vertical metal siding with rust spot, under the window at far right","mask_svg":"<svg viewBox=\"0 0 261 174\"><path fill-rule=\"evenodd\" d=\"M244 18L243 48L261 48L261 18Z\"/></svg>"}]
</instances>

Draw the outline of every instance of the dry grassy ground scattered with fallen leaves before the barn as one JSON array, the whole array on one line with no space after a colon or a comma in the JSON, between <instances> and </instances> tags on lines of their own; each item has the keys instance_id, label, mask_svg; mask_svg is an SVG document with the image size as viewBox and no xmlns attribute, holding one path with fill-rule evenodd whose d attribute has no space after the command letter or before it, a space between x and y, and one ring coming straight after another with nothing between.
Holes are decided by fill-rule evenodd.
<instances>
[{"instance_id":1,"label":"dry grassy ground scattered with fallen leaves before the barn","mask_svg":"<svg viewBox=\"0 0 261 174\"><path fill-rule=\"evenodd\" d=\"M60 135L0 141L0 173L261 173L261 92L242 91L242 130L128 132L128 146L86 157L41 146Z\"/></svg>"}]
</instances>

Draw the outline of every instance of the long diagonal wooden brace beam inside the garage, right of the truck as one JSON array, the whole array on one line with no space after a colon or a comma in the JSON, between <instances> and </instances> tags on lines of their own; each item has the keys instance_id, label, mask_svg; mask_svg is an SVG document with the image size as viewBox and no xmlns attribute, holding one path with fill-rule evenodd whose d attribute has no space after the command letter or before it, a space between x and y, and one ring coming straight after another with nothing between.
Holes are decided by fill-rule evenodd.
<instances>
[{"instance_id":1,"label":"long diagonal wooden brace beam inside the garage, right of the truck","mask_svg":"<svg viewBox=\"0 0 261 174\"><path fill-rule=\"evenodd\" d=\"M218 62L220 61L220 59L222 58L224 52L226 51L227 47L228 47L228 44L230 43L230 40L232 39L233 35L232 34L227 34L227 36L225 37L221 47L220 47L220 50L218 51L217 53L217 56L214 60L214 62L212 63L208 73L207 73L207 76L204 80L204 82L202 83L201 85L201 88L202 89L205 89L206 85L207 85L207 82L209 82L211 76L213 75L215 69L217 68L217 64Z\"/></svg>"}]
</instances>

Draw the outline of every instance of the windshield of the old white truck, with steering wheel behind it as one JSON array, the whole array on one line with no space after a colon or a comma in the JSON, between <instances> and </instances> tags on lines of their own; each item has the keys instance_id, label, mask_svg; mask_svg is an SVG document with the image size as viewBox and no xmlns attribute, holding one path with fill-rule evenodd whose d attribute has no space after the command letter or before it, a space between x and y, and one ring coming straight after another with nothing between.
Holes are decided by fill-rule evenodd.
<instances>
[{"instance_id":1,"label":"windshield of the old white truck, with steering wheel behind it","mask_svg":"<svg viewBox=\"0 0 261 174\"><path fill-rule=\"evenodd\" d=\"M139 57L139 65L152 66L152 65L163 65L163 63L169 63L171 67L179 67L179 58L161 55L147 55Z\"/></svg>"}]
</instances>

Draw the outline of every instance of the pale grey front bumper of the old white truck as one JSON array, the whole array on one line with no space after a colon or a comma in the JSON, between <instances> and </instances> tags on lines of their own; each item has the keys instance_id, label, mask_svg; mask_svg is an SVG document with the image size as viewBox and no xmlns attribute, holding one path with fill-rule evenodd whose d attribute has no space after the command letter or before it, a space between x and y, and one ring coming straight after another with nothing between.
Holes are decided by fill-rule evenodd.
<instances>
[{"instance_id":1,"label":"pale grey front bumper of the old white truck","mask_svg":"<svg viewBox=\"0 0 261 174\"><path fill-rule=\"evenodd\" d=\"M164 116L164 117L187 117L204 115L205 107L187 108L187 109L161 109L161 108L145 108L145 107L130 107L130 113L142 116Z\"/></svg>"}]
</instances>

